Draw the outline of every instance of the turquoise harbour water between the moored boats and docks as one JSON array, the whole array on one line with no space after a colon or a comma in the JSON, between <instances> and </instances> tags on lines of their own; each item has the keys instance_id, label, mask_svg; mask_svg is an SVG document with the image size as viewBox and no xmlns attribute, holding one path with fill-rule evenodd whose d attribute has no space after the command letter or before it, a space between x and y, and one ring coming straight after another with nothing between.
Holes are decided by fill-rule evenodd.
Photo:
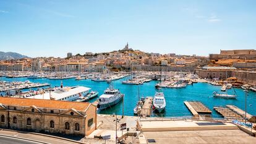
<instances>
[{"instance_id":1,"label":"turquoise harbour water between the moored boats and docks","mask_svg":"<svg viewBox=\"0 0 256 144\"><path fill-rule=\"evenodd\" d=\"M59 86L61 81L64 86L75 86L80 85L84 87L92 88L92 90L99 91L99 96L103 94L103 91L108 88L108 83L106 82L93 82L91 80L75 80L74 78L68 80L48 80L46 78L41 79L27 79L27 78L6 78L2 77L0 80L12 81L25 81L30 80L30 82L39 83L50 83L51 87ZM114 87L119 88L121 93L124 93L124 115L133 116L133 109L138 100L138 85L124 85L122 80L114 81ZM153 96L155 95L155 83L156 81L151 81L149 83L144 83L140 85L140 95L141 96ZM213 91L220 91L221 87L216 87L208 83L194 83L194 85L187 85L186 88L163 88L163 92L166 98L166 109L163 112L164 116L191 116L190 111L184 105L184 101L202 101L208 108L213 111L213 117L220 117L213 110L214 106L224 106L226 104L233 104L241 109L244 109L245 96L244 91L241 88L235 88L237 93L237 100L226 100L221 98L213 98ZM234 90L228 90L229 94L233 94ZM90 100L89 102L95 101L97 98ZM256 93L249 91L247 96L247 111L256 115ZM122 114L122 103L116 104L111 109L106 109L100 112L101 114Z\"/></svg>"}]
</instances>

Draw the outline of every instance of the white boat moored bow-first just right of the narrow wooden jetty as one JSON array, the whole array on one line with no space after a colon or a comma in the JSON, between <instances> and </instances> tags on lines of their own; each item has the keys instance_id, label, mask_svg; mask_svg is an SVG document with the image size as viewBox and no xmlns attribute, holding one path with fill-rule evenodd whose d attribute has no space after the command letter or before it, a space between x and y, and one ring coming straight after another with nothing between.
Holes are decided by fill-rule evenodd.
<instances>
[{"instance_id":1,"label":"white boat moored bow-first just right of the narrow wooden jetty","mask_svg":"<svg viewBox=\"0 0 256 144\"><path fill-rule=\"evenodd\" d=\"M166 101L163 92L156 92L153 99L153 106L158 112L162 112L165 109Z\"/></svg>"}]
</instances>

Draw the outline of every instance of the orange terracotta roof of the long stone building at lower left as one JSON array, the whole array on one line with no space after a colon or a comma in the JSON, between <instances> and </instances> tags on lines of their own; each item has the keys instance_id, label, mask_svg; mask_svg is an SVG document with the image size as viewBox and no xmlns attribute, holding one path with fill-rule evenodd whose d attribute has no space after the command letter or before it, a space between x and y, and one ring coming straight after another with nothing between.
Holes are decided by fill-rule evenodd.
<instances>
[{"instance_id":1,"label":"orange terracotta roof of the long stone building at lower left","mask_svg":"<svg viewBox=\"0 0 256 144\"><path fill-rule=\"evenodd\" d=\"M38 108L54 108L54 109L71 109L77 111L85 111L90 106L90 103L72 102L72 101L57 101L57 100L38 100L27 98L7 98L0 97L0 103L9 106L36 106Z\"/></svg>"}]
</instances>

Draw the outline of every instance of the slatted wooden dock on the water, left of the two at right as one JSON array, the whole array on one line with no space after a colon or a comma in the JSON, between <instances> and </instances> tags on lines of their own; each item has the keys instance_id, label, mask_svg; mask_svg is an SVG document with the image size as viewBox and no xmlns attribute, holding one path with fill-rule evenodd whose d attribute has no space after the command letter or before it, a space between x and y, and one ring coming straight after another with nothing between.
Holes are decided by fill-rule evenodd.
<instances>
[{"instance_id":1,"label":"slatted wooden dock on the water, left of the two at right","mask_svg":"<svg viewBox=\"0 0 256 144\"><path fill-rule=\"evenodd\" d=\"M211 110L200 101L184 101L184 104L195 117L198 117L199 114L211 114Z\"/></svg>"}]
</instances>

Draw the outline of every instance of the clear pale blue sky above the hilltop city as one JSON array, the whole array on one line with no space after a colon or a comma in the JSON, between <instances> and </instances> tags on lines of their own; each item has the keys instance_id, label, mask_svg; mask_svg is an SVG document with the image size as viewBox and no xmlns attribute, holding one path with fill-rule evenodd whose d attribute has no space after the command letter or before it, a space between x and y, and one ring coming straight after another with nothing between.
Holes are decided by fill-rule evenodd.
<instances>
[{"instance_id":1,"label":"clear pale blue sky above the hilltop city","mask_svg":"<svg viewBox=\"0 0 256 144\"><path fill-rule=\"evenodd\" d=\"M0 51L65 57L124 48L208 56L256 49L256 1L0 0Z\"/></svg>"}]
</instances>

